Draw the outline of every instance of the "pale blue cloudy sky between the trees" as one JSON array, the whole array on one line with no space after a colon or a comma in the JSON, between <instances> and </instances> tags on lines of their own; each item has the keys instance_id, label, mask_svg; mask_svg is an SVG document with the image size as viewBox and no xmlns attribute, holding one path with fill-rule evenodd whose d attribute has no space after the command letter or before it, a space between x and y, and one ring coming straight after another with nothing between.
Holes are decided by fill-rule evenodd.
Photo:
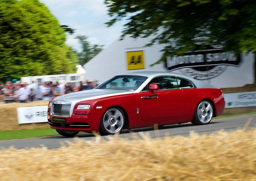
<instances>
[{"instance_id":1,"label":"pale blue cloudy sky between the trees","mask_svg":"<svg viewBox=\"0 0 256 181\"><path fill-rule=\"evenodd\" d=\"M107 27L105 22L111 18L107 14L104 0L40 0L59 20L61 25L76 29L73 35L67 33L66 44L80 51L77 35L86 35L92 44L108 45L117 40L124 22Z\"/></svg>"}]
</instances>

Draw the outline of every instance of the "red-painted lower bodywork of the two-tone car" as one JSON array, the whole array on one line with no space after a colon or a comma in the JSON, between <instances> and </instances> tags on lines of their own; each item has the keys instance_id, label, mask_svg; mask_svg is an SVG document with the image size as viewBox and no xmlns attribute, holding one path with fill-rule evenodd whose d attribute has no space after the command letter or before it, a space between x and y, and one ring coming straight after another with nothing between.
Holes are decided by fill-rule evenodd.
<instances>
[{"instance_id":1,"label":"red-painted lower bodywork of the two-tone car","mask_svg":"<svg viewBox=\"0 0 256 181\"><path fill-rule=\"evenodd\" d=\"M157 75L161 76L159 74ZM153 79L152 77L149 77L149 79ZM99 97L92 96L91 99L79 99L80 101L75 103L71 115L66 117L51 114L50 104L54 101L54 98L52 98L48 106L48 122L49 126L56 130L98 132L104 112L111 107L118 107L125 114L126 123L124 128L126 129L153 126L154 124L185 123L193 120L198 103L202 100L208 100L212 103L213 117L219 116L225 106L222 91L214 87L204 87L194 86L186 89L124 92ZM90 91L92 92L92 90ZM86 91L83 92L86 94ZM148 98L152 96L157 96L157 98ZM90 104L90 108L87 110L77 109L79 104ZM54 121L53 117L65 118L65 122Z\"/></svg>"}]
</instances>

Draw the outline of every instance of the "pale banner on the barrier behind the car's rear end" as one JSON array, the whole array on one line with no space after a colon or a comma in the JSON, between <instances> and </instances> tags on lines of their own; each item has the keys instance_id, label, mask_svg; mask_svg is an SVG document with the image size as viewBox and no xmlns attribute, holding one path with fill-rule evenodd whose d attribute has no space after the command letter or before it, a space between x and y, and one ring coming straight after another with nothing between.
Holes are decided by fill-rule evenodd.
<instances>
[{"instance_id":1,"label":"pale banner on the barrier behind the car's rear end","mask_svg":"<svg viewBox=\"0 0 256 181\"><path fill-rule=\"evenodd\" d=\"M225 108L256 106L256 92L224 94Z\"/></svg>"}]
</instances>

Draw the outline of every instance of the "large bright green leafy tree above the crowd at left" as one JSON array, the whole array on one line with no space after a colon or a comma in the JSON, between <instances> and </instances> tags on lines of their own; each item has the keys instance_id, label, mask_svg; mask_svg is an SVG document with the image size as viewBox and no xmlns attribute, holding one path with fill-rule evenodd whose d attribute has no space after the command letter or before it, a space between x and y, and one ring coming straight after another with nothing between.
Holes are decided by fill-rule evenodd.
<instances>
[{"instance_id":1,"label":"large bright green leafy tree above the crowd at left","mask_svg":"<svg viewBox=\"0 0 256 181\"><path fill-rule=\"evenodd\" d=\"M38 0L0 1L0 79L76 72L65 31Z\"/></svg>"}]
</instances>

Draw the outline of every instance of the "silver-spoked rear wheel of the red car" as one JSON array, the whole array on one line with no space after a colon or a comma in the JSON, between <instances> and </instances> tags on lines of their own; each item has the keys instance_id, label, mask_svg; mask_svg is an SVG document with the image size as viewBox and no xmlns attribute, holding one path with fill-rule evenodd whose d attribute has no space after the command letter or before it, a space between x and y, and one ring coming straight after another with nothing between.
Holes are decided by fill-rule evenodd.
<instances>
[{"instance_id":1,"label":"silver-spoked rear wheel of the red car","mask_svg":"<svg viewBox=\"0 0 256 181\"><path fill-rule=\"evenodd\" d=\"M194 113L194 118L192 124L194 125L204 125L209 124L213 116L213 105L209 100L202 100L196 106Z\"/></svg>"}]
</instances>

